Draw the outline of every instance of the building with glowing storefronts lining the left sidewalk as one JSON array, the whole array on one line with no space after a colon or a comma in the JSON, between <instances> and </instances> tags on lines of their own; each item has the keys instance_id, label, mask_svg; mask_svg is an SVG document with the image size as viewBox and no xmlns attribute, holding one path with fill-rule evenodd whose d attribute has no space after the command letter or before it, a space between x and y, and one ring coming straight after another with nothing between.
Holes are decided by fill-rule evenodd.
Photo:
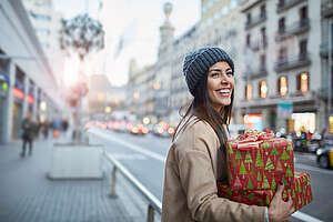
<instances>
[{"instance_id":1,"label":"building with glowing storefronts lining the left sidewalk","mask_svg":"<svg viewBox=\"0 0 333 222\"><path fill-rule=\"evenodd\" d=\"M28 112L46 121L64 117L65 108L21 1L1 1L0 11L0 141L7 143L20 138Z\"/></svg>"}]
</instances>

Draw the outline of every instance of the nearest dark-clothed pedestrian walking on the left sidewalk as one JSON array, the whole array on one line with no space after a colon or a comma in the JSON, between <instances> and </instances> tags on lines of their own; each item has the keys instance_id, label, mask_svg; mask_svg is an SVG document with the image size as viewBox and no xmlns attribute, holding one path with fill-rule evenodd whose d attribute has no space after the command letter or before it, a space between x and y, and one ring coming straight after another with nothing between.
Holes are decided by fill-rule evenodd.
<instances>
[{"instance_id":1,"label":"nearest dark-clothed pedestrian walking on the left sidewalk","mask_svg":"<svg viewBox=\"0 0 333 222\"><path fill-rule=\"evenodd\" d=\"M24 158L27 144L29 145L29 155L32 154L32 143L37 132L37 123L33 122L30 113L28 113L24 118L21 129L23 140L21 157Z\"/></svg>"}]
</instances>

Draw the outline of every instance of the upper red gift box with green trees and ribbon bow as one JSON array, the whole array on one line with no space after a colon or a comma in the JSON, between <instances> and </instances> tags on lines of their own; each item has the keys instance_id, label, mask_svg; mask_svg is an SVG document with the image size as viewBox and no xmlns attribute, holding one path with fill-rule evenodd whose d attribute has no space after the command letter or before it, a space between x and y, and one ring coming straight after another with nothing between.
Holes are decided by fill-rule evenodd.
<instances>
[{"instance_id":1,"label":"upper red gift box with green trees and ribbon bow","mask_svg":"<svg viewBox=\"0 0 333 222\"><path fill-rule=\"evenodd\" d=\"M293 185L292 142L272 133L246 132L226 144L231 190L274 190L280 181Z\"/></svg>"}]
</instances>

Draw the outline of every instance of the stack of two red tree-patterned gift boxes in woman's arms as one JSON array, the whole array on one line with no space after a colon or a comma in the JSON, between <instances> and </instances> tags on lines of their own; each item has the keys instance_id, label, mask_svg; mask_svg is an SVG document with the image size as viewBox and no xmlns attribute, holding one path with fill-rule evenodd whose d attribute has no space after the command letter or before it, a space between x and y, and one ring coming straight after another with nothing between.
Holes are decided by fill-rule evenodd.
<instances>
[{"instance_id":1,"label":"stack of two red tree-patterned gift boxes in woman's arms","mask_svg":"<svg viewBox=\"0 0 333 222\"><path fill-rule=\"evenodd\" d=\"M278 183L282 198L292 198L295 210L312 201L309 173L294 172L292 142L273 133L249 131L228 141L229 185L218 183L221 198L249 205L268 206Z\"/></svg>"}]
</instances>

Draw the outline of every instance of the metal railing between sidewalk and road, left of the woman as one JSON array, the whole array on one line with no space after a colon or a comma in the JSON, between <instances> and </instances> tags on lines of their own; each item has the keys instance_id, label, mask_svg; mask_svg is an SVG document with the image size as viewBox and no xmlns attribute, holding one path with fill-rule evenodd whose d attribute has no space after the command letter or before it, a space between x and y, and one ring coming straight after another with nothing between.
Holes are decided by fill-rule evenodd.
<instances>
[{"instance_id":1,"label":"metal railing between sidewalk and road, left of the woman","mask_svg":"<svg viewBox=\"0 0 333 222\"><path fill-rule=\"evenodd\" d=\"M140 183L115 158L104 151L103 155L113 165L112 170L112 184L110 198L117 198L115 184L117 184L117 171L119 171L130 183L133 185L140 194L142 194L149 202L147 210L147 221L154 221L154 212L162 214L162 203L142 184Z\"/></svg>"}]
</instances>

